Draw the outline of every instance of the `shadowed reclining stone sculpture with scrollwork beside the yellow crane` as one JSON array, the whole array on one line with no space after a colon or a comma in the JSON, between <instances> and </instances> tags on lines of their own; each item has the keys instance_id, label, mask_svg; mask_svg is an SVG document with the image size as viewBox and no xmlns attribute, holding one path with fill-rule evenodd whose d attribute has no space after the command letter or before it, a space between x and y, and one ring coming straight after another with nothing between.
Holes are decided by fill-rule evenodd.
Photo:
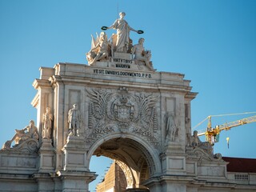
<instances>
[{"instance_id":1,"label":"shadowed reclining stone sculpture with scrollwork beside the yellow crane","mask_svg":"<svg viewBox=\"0 0 256 192\"><path fill-rule=\"evenodd\" d=\"M186 146L186 153L189 154L188 158L196 158L202 161L223 161L222 154L214 154L210 142L201 142L197 130L194 130L190 137L190 146Z\"/></svg>"}]
</instances>

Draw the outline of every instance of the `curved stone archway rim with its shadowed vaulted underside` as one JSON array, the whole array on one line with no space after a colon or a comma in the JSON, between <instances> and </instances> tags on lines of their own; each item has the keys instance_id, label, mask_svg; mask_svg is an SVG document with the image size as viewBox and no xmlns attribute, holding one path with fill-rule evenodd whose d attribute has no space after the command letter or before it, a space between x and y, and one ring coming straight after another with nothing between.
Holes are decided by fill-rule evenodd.
<instances>
[{"instance_id":1,"label":"curved stone archway rim with its shadowed vaulted underside","mask_svg":"<svg viewBox=\"0 0 256 192\"><path fill-rule=\"evenodd\" d=\"M107 134L98 139L88 151L88 167L92 155L105 156L118 162L129 187L140 187L147 178L161 172L157 150L135 134Z\"/></svg>"}]
</instances>

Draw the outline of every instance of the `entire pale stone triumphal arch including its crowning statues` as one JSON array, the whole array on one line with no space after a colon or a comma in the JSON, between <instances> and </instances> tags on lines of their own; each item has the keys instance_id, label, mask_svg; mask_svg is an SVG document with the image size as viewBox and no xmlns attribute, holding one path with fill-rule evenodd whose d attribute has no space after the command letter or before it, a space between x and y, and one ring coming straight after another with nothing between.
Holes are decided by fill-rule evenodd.
<instances>
[{"instance_id":1,"label":"entire pale stone triumphal arch including its crowning statues","mask_svg":"<svg viewBox=\"0 0 256 192\"><path fill-rule=\"evenodd\" d=\"M191 133L190 81L155 70L124 16L92 38L88 64L40 68L37 119L0 151L1 191L88 191L93 155L118 163L127 191L234 189L221 155Z\"/></svg>"}]
</instances>

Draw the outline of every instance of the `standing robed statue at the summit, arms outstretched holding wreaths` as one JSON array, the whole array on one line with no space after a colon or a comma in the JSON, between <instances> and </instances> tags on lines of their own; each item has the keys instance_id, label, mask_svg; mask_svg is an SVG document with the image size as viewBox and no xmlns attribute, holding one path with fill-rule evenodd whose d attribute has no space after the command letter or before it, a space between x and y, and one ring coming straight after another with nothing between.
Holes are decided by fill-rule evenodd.
<instances>
[{"instance_id":1,"label":"standing robed statue at the summit, arms outstretched holding wreaths","mask_svg":"<svg viewBox=\"0 0 256 192\"><path fill-rule=\"evenodd\" d=\"M134 30L132 27L128 25L128 22L124 19L126 13L121 12L119 14L120 18L115 20L112 26L106 27L106 29L114 29L117 30L117 39L116 39L116 51L126 53L130 44L130 30L137 32L138 34L142 34L142 30ZM103 28L102 28L103 29Z\"/></svg>"}]
</instances>

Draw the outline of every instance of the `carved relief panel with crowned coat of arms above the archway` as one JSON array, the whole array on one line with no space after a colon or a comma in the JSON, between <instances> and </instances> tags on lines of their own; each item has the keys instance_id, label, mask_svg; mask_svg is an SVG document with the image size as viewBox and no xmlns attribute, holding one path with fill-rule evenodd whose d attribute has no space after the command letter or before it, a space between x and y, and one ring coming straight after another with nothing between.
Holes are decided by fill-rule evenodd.
<instances>
[{"instance_id":1,"label":"carved relief panel with crowned coat of arms above the archway","mask_svg":"<svg viewBox=\"0 0 256 192\"><path fill-rule=\"evenodd\" d=\"M88 91L90 97L89 129L86 142L114 131L132 132L158 143L157 118L153 95L130 94L126 87L118 92L107 90Z\"/></svg>"}]
</instances>

